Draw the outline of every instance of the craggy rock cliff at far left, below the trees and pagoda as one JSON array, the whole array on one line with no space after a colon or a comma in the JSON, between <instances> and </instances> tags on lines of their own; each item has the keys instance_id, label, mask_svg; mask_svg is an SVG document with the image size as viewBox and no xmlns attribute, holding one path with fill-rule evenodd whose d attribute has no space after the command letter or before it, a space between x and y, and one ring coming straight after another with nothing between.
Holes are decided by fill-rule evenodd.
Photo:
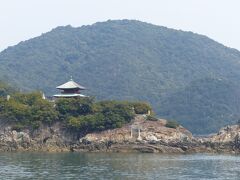
<instances>
[{"instance_id":1,"label":"craggy rock cliff at far left, below the trees and pagoda","mask_svg":"<svg viewBox=\"0 0 240 180\"><path fill-rule=\"evenodd\" d=\"M10 126L0 129L0 151L69 151L73 140L73 135L62 130L59 123L32 132L17 132Z\"/></svg>"}]
</instances>

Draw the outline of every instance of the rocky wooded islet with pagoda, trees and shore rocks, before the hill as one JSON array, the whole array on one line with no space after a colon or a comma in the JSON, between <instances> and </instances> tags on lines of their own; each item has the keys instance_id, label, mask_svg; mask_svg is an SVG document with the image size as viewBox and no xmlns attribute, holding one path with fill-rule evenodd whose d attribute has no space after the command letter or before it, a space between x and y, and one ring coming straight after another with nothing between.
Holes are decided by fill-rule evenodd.
<instances>
[{"instance_id":1,"label":"rocky wooded islet with pagoda, trees and shore rocks, before the hill","mask_svg":"<svg viewBox=\"0 0 240 180\"><path fill-rule=\"evenodd\" d=\"M194 137L176 121L156 118L146 102L95 101L72 79L54 100L1 86L0 151L240 152L239 125Z\"/></svg>"}]
</instances>

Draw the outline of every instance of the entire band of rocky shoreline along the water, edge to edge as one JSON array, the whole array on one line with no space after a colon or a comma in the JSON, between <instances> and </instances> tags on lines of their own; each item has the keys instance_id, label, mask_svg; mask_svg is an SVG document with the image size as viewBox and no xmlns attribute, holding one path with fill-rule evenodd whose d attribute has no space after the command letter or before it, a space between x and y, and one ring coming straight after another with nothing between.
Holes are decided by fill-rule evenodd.
<instances>
[{"instance_id":1,"label":"entire band of rocky shoreline along the water, edge to edge","mask_svg":"<svg viewBox=\"0 0 240 180\"><path fill-rule=\"evenodd\" d=\"M193 137L182 126L168 128L166 120L147 121L138 115L122 128L79 135L61 123L30 131L0 128L0 151L240 153L240 127L228 126L208 137Z\"/></svg>"}]
</instances>

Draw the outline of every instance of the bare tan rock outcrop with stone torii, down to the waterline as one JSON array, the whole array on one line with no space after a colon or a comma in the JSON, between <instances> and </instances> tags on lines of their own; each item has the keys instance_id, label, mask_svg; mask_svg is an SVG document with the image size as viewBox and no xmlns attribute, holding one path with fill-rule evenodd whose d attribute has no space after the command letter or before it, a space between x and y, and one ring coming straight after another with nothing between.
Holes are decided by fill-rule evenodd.
<instances>
[{"instance_id":1,"label":"bare tan rock outcrop with stone torii, down to the waterline","mask_svg":"<svg viewBox=\"0 0 240 180\"><path fill-rule=\"evenodd\" d=\"M113 152L162 152L182 153L186 142L192 142L192 134L183 127L165 127L166 120L146 121L137 116L131 124L122 128L91 133L79 139L75 151L99 151L99 146ZM181 143L185 143L181 146Z\"/></svg>"}]
</instances>

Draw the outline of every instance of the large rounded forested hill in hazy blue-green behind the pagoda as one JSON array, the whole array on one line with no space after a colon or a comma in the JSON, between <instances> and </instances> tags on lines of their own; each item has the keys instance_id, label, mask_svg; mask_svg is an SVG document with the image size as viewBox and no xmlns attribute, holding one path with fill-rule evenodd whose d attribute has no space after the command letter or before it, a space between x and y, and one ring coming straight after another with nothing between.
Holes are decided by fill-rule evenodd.
<instances>
[{"instance_id":1,"label":"large rounded forested hill in hazy blue-green behind the pagoda","mask_svg":"<svg viewBox=\"0 0 240 180\"><path fill-rule=\"evenodd\" d=\"M69 80L98 99L149 101L193 133L240 117L240 52L206 36L130 20L58 27L0 53L0 79L51 95Z\"/></svg>"}]
</instances>

